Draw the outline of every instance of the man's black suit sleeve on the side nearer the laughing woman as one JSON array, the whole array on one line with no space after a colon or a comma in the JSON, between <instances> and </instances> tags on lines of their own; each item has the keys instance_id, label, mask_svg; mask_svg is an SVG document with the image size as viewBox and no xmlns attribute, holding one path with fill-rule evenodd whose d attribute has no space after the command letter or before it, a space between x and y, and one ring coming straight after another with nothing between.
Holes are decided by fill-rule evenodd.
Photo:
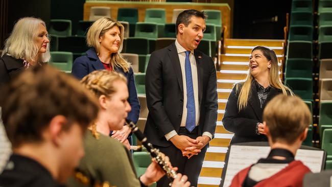
<instances>
[{"instance_id":1,"label":"man's black suit sleeve on the side nearer the laughing woman","mask_svg":"<svg viewBox=\"0 0 332 187\"><path fill-rule=\"evenodd\" d=\"M217 72L215 64L212 59L209 57L210 61L210 73L206 86L205 95L205 121L203 132L209 132L212 135L216 131L216 122L218 117L218 93L217 93Z\"/></svg>"}]
</instances>

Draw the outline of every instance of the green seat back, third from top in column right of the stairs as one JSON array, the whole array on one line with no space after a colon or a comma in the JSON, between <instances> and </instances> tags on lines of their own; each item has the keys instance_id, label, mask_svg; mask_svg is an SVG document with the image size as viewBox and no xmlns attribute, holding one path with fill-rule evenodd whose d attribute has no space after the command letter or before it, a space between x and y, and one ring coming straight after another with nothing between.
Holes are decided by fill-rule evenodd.
<instances>
[{"instance_id":1,"label":"green seat back, third from top in column right of the stairs","mask_svg":"<svg viewBox=\"0 0 332 187\"><path fill-rule=\"evenodd\" d=\"M289 40L313 41L313 26L294 25L289 29Z\"/></svg>"}]
</instances>

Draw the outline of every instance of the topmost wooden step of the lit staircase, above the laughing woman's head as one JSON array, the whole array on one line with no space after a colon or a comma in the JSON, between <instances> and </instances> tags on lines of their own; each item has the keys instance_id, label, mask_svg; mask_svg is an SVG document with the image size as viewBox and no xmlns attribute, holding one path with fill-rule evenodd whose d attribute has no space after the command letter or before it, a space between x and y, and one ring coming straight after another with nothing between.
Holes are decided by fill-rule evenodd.
<instances>
[{"instance_id":1,"label":"topmost wooden step of the lit staircase, above the laughing woman's head","mask_svg":"<svg viewBox=\"0 0 332 187\"><path fill-rule=\"evenodd\" d=\"M241 46L282 46L284 40L263 40L263 39L225 39L225 46L241 45Z\"/></svg>"}]
</instances>

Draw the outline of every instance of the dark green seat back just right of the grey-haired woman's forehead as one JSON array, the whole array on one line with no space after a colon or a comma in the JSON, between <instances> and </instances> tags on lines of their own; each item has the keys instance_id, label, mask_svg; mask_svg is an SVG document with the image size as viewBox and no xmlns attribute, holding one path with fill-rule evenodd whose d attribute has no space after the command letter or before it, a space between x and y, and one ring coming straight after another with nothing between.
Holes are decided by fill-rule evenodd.
<instances>
[{"instance_id":1,"label":"dark green seat back just right of the grey-haired woman's forehead","mask_svg":"<svg viewBox=\"0 0 332 187\"><path fill-rule=\"evenodd\" d=\"M71 36L72 21L68 19L51 19L49 33L57 36Z\"/></svg>"}]
</instances>

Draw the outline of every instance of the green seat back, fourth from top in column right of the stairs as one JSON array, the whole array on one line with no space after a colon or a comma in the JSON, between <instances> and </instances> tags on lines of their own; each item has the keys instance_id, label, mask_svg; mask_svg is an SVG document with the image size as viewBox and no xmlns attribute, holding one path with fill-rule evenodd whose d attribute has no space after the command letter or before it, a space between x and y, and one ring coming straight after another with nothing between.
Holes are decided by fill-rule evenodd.
<instances>
[{"instance_id":1,"label":"green seat back, fourth from top in column right of the stairs","mask_svg":"<svg viewBox=\"0 0 332 187\"><path fill-rule=\"evenodd\" d=\"M287 58L313 58L312 41L289 41Z\"/></svg>"}]
</instances>

